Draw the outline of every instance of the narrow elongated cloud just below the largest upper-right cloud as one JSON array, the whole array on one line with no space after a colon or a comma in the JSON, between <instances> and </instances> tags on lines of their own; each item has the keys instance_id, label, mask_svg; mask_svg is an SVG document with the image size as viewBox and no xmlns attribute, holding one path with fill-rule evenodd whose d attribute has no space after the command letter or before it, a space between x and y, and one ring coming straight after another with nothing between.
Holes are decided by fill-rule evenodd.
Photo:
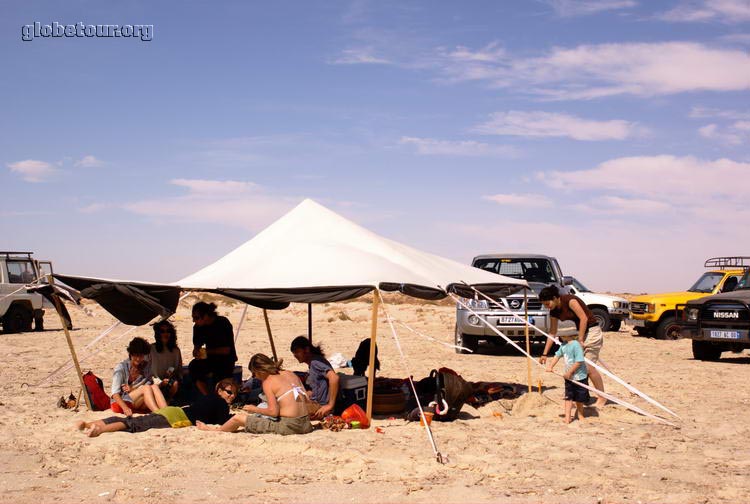
<instances>
[{"instance_id":1,"label":"narrow elongated cloud just below the largest upper-right cloud","mask_svg":"<svg viewBox=\"0 0 750 504\"><path fill-rule=\"evenodd\" d=\"M635 123L623 120L594 121L552 112L496 112L473 129L486 135L523 137L569 137L575 140L624 140L643 132Z\"/></svg>"}]
</instances>

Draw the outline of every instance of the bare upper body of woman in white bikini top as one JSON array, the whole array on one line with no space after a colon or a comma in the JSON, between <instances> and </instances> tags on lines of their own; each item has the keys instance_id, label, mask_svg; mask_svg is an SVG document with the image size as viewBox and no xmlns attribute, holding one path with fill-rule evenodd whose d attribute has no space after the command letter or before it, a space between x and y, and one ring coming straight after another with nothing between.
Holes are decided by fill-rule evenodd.
<instances>
[{"instance_id":1,"label":"bare upper body of woman in white bikini top","mask_svg":"<svg viewBox=\"0 0 750 504\"><path fill-rule=\"evenodd\" d=\"M297 418L307 415L307 393L296 374L281 367L283 359L274 362L263 354L255 354L250 359L250 371L263 383L263 393L268 398L268 406L247 405L243 409L249 413L260 413L270 417Z\"/></svg>"}]
</instances>

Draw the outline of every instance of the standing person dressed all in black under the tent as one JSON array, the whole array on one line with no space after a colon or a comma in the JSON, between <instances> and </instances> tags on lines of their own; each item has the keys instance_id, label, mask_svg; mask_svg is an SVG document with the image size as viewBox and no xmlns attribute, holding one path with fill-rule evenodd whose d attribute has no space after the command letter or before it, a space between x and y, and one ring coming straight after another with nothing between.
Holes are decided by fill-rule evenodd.
<instances>
[{"instance_id":1,"label":"standing person dressed all in black under the tent","mask_svg":"<svg viewBox=\"0 0 750 504\"><path fill-rule=\"evenodd\" d=\"M201 394L211 390L209 382L231 378L237 351L234 348L234 329L229 319L216 313L216 304L200 301L193 305L193 357L189 365L190 377ZM199 359L201 347L206 346L206 358Z\"/></svg>"}]
</instances>

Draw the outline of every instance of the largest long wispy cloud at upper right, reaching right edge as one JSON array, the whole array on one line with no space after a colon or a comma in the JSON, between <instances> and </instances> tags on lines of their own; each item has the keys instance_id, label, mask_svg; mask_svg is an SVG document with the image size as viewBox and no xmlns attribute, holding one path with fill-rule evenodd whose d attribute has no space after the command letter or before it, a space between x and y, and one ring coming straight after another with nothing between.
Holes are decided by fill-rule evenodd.
<instances>
[{"instance_id":1,"label":"largest long wispy cloud at upper right, reaching right edge","mask_svg":"<svg viewBox=\"0 0 750 504\"><path fill-rule=\"evenodd\" d=\"M556 47L538 57L479 54L442 50L441 71L448 81L482 81L549 100L750 89L750 55L693 42Z\"/></svg>"}]
</instances>

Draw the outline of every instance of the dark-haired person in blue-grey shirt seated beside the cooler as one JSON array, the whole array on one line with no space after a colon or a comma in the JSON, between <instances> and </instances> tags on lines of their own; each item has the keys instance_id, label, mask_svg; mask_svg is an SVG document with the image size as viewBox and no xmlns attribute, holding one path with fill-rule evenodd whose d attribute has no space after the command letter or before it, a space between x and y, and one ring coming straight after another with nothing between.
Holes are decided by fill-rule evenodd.
<instances>
[{"instance_id":1,"label":"dark-haired person in blue-grey shirt seated beside the cooler","mask_svg":"<svg viewBox=\"0 0 750 504\"><path fill-rule=\"evenodd\" d=\"M297 336L292 340L291 351L297 362L310 367L305 383L311 391L308 403L311 418L319 420L333 413L339 393L339 375L326 360L320 345L313 346L305 336Z\"/></svg>"}]
</instances>

